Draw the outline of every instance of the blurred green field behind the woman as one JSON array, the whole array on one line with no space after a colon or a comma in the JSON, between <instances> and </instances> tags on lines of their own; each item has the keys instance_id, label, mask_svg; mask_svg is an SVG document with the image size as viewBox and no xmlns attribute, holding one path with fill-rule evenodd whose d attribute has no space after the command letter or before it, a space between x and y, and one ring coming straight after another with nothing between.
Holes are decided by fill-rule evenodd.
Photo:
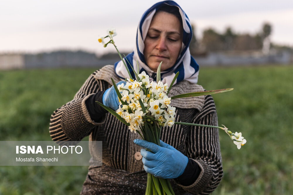
<instances>
[{"instance_id":1,"label":"blurred green field behind the woman","mask_svg":"<svg viewBox=\"0 0 293 195\"><path fill-rule=\"evenodd\" d=\"M50 140L52 112L70 101L95 69L0 72L0 140ZM200 68L219 125L242 132L240 150L220 132L224 177L213 194L293 194L293 66ZM0 194L79 194L84 166L0 167Z\"/></svg>"}]
</instances>

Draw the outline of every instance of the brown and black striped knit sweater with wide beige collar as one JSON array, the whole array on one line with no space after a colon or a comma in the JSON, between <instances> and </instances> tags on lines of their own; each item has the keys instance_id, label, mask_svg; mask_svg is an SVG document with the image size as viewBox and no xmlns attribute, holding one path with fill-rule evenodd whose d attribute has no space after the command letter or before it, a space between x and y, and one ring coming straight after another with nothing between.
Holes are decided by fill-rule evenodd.
<instances>
[{"instance_id":1,"label":"brown and black striped knit sweater with wide beige collar","mask_svg":"<svg viewBox=\"0 0 293 195\"><path fill-rule=\"evenodd\" d=\"M101 167L89 167L81 194L143 194L146 189L147 174L142 161L135 156L140 147L133 143L139 134L110 113L100 121L91 119L85 101L96 92L111 87L120 81L113 65L95 71L76 93L74 99L58 108L51 116L50 135L54 141L79 141L86 136L90 140L103 141L103 153L90 147L92 160L102 155ZM170 90L169 96L202 91L200 85L181 81ZM173 99L176 107L175 121L192 122L217 126L217 113L212 96ZM197 180L190 186L183 186L171 180L175 194L210 194L222 179L222 158L216 128L173 125L163 127L161 140L170 144L201 168Z\"/></svg>"}]
</instances>

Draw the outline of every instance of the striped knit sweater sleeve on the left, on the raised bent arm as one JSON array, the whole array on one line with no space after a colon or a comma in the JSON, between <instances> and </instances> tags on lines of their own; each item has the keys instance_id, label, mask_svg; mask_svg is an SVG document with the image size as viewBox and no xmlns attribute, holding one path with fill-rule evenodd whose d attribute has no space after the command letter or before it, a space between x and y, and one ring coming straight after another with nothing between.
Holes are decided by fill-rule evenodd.
<instances>
[{"instance_id":1,"label":"striped knit sweater sleeve on the left, on the raised bent arm","mask_svg":"<svg viewBox=\"0 0 293 195\"><path fill-rule=\"evenodd\" d=\"M97 71L88 77L73 100L51 115L49 130L53 141L80 141L88 136L94 127L105 122L105 115L98 122L92 120L86 107L86 100L101 91L101 82L98 83L94 78L96 73Z\"/></svg>"}]
</instances>

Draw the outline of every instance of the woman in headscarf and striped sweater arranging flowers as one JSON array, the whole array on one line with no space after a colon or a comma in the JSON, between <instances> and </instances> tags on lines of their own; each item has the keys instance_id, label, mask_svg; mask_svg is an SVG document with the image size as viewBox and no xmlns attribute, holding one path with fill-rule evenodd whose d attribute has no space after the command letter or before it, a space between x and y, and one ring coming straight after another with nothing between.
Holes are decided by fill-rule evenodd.
<instances>
[{"instance_id":1,"label":"woman in headscarf and striped sweater arranging flowers","mask_svg":"<svg viewBox=\"0 0 293 195\"><path fill-rule=\"evenodd\" d=\"M179 71L169 96L202 91L204 89L196 84L198 65L188 48L191 37L189 20L180 6L174 1L159 2L142 16L136 47L126 58L134 69L138 61L139 72L145 71L150 81L156 80L161 61L163 83L169 85ZM143 194L146 172L172 179L175 194L211 193L223 174L217 129L173 125L162 128L161 146L139 140L138 134L130 132L126 125L95 103L99 101L114 110L118 108L110 77L115 82L123 82L121 80L128 77L122 61L94 72L74 99L51 117L50 134L54 141L78 141L88 135L90 140L103 141L103 165L89 167L81 194ZM217 126L211 96L174 99L171 104L176 107L175 121ZM93 146L90 149L90 162L94 162L101 154Z\"/></svg>"}]
</instances>

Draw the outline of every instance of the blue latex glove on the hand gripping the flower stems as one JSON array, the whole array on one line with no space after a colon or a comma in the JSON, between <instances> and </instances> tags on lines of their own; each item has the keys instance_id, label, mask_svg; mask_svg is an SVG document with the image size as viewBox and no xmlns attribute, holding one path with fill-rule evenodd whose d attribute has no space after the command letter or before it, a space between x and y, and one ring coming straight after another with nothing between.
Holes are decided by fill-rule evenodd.
<instances>
[{"instance_id":1,"label":"blue latex glove on the hand gripping the flower stems","mask_svg":"<svg viewBox=\"0 0 293 195\"><path fill-rule=\"evenodd\" d=\"M149 141L134 139L134 143L151 150L141 149L144 170L156 177L173 179L184 172L188 157L176 150L173 146L160 140L160 146Z\"/></svg>"}]
</instances>

